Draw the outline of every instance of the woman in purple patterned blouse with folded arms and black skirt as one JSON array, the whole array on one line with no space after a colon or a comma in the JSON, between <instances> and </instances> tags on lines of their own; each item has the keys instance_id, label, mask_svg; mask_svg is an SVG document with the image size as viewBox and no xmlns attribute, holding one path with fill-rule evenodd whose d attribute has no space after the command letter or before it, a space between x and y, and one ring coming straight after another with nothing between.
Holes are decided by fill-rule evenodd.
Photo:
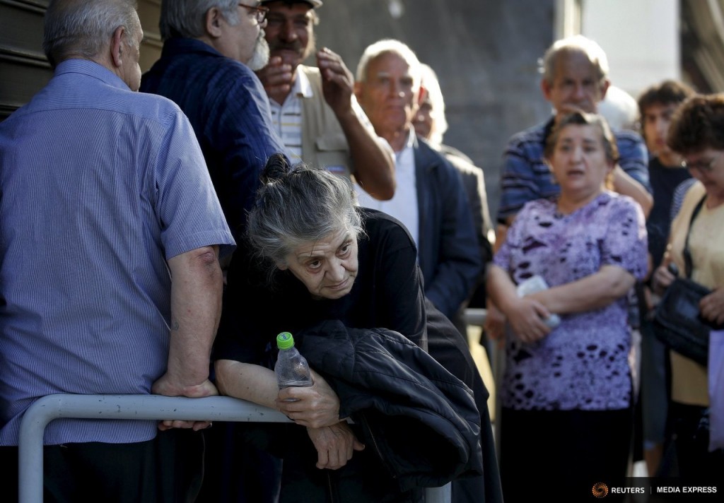
<instances>
[{"instance_id":1,"label":"woman in purple patterned blouse with folded arms and black skirt","mask_svg":"<svg viewBox=\"0 0 724 503\"><path fill-rule=\"evenodd\" d=\"M626 297L647 271L641 209L607 189L618 152L605 119L561 117L545 153L560 195L526 204L487 282L510 324L498 397L513 502L526 480L572 491L623 484L633 423ZM549 288L521 296L533 276Z\"/></svg>"}]
</instances>

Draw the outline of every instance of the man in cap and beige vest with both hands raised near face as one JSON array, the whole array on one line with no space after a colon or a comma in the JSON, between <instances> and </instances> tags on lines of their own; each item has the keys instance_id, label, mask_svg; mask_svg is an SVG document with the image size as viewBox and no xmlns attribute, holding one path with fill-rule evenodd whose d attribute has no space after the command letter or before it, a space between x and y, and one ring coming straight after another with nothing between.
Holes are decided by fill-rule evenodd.
<instances>
[{"instance_id":1,"label":"man in cap and beige vest with both hands raised near face","mask_svg":"<svg viewBox=\"0 0 724 503\"><path fill-rule=\"evenodd\" d=\"M377 199L395 192L395 161L353 95L354 77L338 54L315 52L314 26L321 0L262 0L269 9L266 41L271 58L257 72L269 95L272 119L292 161L326 166Z\"/></svg>"}]
</instances>

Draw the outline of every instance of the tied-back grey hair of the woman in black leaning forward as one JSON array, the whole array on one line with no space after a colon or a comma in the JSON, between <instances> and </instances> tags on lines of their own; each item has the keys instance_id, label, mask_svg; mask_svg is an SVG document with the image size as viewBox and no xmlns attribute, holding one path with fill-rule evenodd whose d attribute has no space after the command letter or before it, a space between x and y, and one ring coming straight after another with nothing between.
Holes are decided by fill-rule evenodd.
<instances>
[{"instance_id":1,"label":"tied-back grey hair of the woman in black leaning forward","mask_svg":"<svg viewBox=\"0 0 724 503\"><path fill-rule=\"evenodd\" d=\"M268 261L270 273L298 246L347 229L363 233L355 191L348 179L327 169L290 166L276 153L261 174L256 204L248 215L247 237Z\"/></svg>"}]
</instances>

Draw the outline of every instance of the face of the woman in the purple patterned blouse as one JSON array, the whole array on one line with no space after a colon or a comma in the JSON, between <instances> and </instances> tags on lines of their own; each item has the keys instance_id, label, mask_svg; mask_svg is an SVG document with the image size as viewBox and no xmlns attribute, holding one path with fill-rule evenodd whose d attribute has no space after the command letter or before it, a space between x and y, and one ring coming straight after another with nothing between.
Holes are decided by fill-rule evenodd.
<instances>
[{"instance_id":1,"label":"face of the woman in the purple patterned blouse","mask_svg":"<svg viewBox=\"0 0 724 503\"><path fill-rule=\"evenodd\" d=\"M560 130L549 161L562 194L585 199L605 188L613 161L607 158L603 142L597 125L568 124Z\"/></svg>"}]
</instances>

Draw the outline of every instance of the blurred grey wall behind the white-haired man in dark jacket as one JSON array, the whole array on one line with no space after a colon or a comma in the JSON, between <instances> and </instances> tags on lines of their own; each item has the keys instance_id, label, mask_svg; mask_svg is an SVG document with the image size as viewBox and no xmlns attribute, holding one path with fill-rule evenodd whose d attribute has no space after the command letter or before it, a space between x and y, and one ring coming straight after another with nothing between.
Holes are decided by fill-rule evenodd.
<instances>
[{"instance_id":1,"label":"blurred grey wall behind the white-haired man in dark jacket","mask_svg":"<svg viewBox=\"0 0 724 503\"><path fill-rule=\"evenodd\" d=\"M394 17L390 5L402 7ZM399 11L397 11L399 12ZM440 80L450 129L445 143L484 169L497 209L501 153L510 135L542 121L536 62L552 42L553 0L324 0L317 46L354 72L364 48L397 38Z\"/></svg>"}]
</instances>

